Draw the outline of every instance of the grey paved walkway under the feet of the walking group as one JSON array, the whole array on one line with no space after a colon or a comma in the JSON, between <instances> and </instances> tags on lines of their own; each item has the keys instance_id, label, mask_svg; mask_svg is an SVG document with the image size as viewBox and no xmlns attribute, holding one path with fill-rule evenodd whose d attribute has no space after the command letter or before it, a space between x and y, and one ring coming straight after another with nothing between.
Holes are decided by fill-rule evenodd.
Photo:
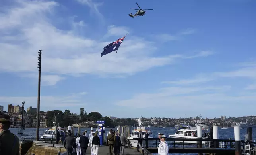
<instances>
[{"instance_id":1,"label":"grey paved walkway under the feet of the walking group","mask_svg":"<svg viewBox=\"0 0 256 155\"><path fill-rule=\"evenodd\" d=\"M76 153L73 153L73 155L76 155ZM91 155L91 148L87 149L86 155ZM100 146L99 147L99 155L109 155L109 147ZM113 150L113 155L114 155L114 150ZM136 148L125 147L124 155L141 155L141 153L137 152Z\"/></svg>"}]
</instances>

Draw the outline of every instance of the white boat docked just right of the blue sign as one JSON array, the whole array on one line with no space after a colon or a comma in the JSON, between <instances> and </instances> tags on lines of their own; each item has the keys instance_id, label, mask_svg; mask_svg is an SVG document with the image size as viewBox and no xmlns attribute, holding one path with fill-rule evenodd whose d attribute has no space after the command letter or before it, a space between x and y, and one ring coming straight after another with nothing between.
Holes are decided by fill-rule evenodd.
<instances>
[{"instance_id":1,"label":"white boat docked just right of the blue sign","mask_svg":"<svg viewBox=\"0 0 256 155\"><path fill-rule=\"evenodd\" d=\"M128 140L129 140L130 144L132 145L132 147L137 147L138 140L134 140L133 138L138 138L138 133L139 133L140 129L141 129L141 133L142 133L142 138L145 137L145 134L146 134L146 131L147 131L145 129L145 127L137 127L137 129L132 130L132 134L128 138ZM148 138L153 138L152 133L151 133L150 130L148 131L148 133L149 133L149 137Z\"/></svg>"}]
</instances>

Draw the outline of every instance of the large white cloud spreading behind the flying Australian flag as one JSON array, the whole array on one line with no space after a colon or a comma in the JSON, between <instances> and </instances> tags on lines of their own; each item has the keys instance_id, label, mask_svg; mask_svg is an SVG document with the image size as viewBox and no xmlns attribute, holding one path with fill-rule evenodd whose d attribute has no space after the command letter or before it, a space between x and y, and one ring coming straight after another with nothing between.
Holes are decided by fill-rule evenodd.
<instances>
[{"instance_id":1,"label":"large white cloud spreading behind the flying Australian flag","mask_svg":"<svg viewBox=\"0 0 256 155\"><path fill-rule=\"evenodd\" d=\"M200 51L192 56L169 55L151 57L157 50L154 42L129 35L118 53L100 57L103 47L110 42L98 42L78 36L72 30L61 30L51 24L56 7L51 1L18 1L11 10L0 14L0 72L17 74L37 73L37 51L42 52L42 81L54 85L63 80L63 75L77 76L96 74L123 77L156 66L173 63L176 59L205 57L209 53ZM92 1L83 1L89 3ZM85 26L83 21L73 26ZM126 27L111 26L107 34L119 35ZM15 33L14 33L15 32ZM112 40L113 41L113 40ZM203 54L202 54L203 53ZM37 76L34 76L37 78Z\"/></svg>"}]
</instances>

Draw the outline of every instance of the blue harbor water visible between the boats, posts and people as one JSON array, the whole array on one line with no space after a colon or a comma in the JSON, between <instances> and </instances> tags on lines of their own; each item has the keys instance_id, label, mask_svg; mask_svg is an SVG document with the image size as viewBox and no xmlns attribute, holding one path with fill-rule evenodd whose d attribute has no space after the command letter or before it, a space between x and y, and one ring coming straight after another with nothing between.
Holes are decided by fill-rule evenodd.
<instances>
[{"instance_id":1,"label":"blue harbor water visible between the boats, posts and people","mask_svg":"<svg viewBox=\"0 0 256 155\"><path fill-rule=\"evenodd\" d=\"M49 128L40 128L39 129L39 136L42 136L45 130L48 130ZM105 132L108 132L110 128L105 128ZM112 128L113 130L116 130L116 128ZM171 128L166 127L166 128L146 128L147 130L151 130L151 132L153 133L153 137L157 138L158 133L159 132L163 132L165 135L170 135L170 134L174 134L176 130L171 130ZM90 128L81 128L80 131L81 133L83 131L87 130L87 133L90 132ZM94 129L95 130L95 129ZM130 131L132 131L133 128L130 129ZM31 135L35 135L36 134L36 128L26 128L25 130L23 130L23 136L19 135L19 129L18 128L10 128L10 131L14 134L16 134L20 139L23 137L27 137L30 138ZM78 128L74 129L74 132L77 133L78 132ZM203 131L204 132L204 131ZM244 135L247 132L247 128L244 129L240 129L241 132L241 140L244 140ZM252 128L252 136L253 136L253 140L256 140L256 128ZM35 137L35 136L34 136ZM220 139L229 139L231 138L232 140L234 140L234 128L229 128L229 129L220 129L219 128L219 138ZM154 154L157 155L157 154ZM172 153L172 155L178 155L176 153ZM182 154L182 155L197 155L197 154Z\"/></svg>"}]
</instances>

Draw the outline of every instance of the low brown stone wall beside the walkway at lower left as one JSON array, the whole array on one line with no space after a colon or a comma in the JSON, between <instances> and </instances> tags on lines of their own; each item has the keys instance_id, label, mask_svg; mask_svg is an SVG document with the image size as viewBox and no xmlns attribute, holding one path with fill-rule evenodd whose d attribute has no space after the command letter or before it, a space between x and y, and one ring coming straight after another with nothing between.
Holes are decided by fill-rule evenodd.
<instances>
[{"instance_id":1,"label":"low brown stone wall beside the walkway at lower left","mask_svg":"<svg viewBox=\"0 0 256 155\"><path fill-rule=\"evenodd\" d=\"M59 150L64 153L63 145L60 144L49 144L40 141L19 141L19 152L20 155L57 155Z\"/></svg>"}]
</instances>

